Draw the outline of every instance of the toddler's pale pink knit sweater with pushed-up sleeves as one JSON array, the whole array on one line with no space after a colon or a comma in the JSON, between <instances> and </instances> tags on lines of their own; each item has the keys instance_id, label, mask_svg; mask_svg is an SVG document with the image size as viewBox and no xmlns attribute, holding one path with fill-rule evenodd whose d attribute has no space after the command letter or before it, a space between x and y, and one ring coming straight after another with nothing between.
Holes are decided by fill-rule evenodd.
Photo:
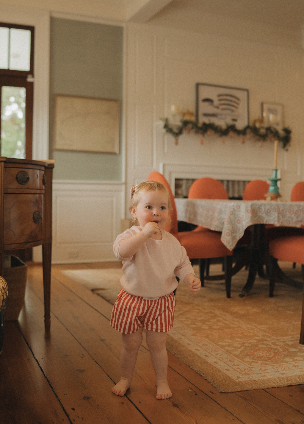
<instances>
[{"instance_id":1,"label":"toddler's pale pink knit sweater with pushed-up sleeves","mask_svg":"<svg viewBox=\"0 0 304 424\"><path fill-rule=\"evenodd\" d=\"M149 238L131 258L119 255L119 243L140 232L133 226L117 236L113 250L123 263L122 288L135 296L165 296L176 289L178 283L174 274L181 280L194 273L185 248L170 233L160 230L162 240Z\"/></svg>"}]
</instances>

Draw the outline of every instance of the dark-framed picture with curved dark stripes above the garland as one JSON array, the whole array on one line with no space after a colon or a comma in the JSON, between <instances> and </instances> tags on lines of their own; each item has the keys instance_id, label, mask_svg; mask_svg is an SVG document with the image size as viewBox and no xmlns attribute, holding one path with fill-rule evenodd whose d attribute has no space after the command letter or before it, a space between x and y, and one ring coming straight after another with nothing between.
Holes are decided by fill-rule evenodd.
<instances>
[{"instance_id":1,"label":"dark-framed picture with curved dark stripes above the garland","mask_svg":"<svg viewBox=\"0 0 304 424\"><path fill-rule=\"evenodd\" d=\"M213 84L196 84L196 121L198 125L214 123L225 128L249 124L249 91L244 88Z\"/></svg>"}]
</instances>

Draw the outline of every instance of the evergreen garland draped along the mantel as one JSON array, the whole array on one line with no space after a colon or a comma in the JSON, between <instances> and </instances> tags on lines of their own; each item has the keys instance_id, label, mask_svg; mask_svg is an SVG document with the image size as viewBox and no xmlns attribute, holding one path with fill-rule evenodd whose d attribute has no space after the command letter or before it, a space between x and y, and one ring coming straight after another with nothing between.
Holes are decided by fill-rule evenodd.
<instances>
[{"instance_id":1,"label":"evergreen garland draped along the mantel","mask_svg":"<svg viewBox=\"0 0 304 424\"><path fill-rule=\"evenodd\" d=\"M194 131L196 134L202 134L203 136L207 132L213 132L214 134L218 135L218 137L225 137L228 135L245 137L246 135L249 136L251 134L257 139L263 141L266 141L267 139L278 140L279 142L282 142L283 148L286 150L288 145L290 144L291 139L291 130L289 128L283 128L282 131L279 132L276 128L273 127L258 128L256 126L247 125L243 129L239 130L235 127L234 124L227 125L226 128L222 128L221 126L218 126L212 122L203 122L202 125L199 126L196 122L187 120L181 120L180 124L173 124L172 126L170 126L168 118L164 118L162 120L164 121L163 129L166 130L167 133L173 135L175 139L182 135L184 130L187 133Z\"/></svg>"}]
</instances>

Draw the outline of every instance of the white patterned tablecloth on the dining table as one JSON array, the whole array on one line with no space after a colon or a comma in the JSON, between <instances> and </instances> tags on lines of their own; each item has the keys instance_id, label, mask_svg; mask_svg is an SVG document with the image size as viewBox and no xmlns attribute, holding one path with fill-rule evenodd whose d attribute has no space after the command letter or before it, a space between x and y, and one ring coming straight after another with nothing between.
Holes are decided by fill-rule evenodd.
<instances>
[{"instance_id":1,"label":"white patterned tablecloth on the dining table","mask_svg":"<svg viewBox=\"0 0 304 424\"><path fill-rule=\"evenodd\" d=\"M300 227L304 202L175 199L177 219L221 231L221 241L232 250L252 224Z\"/></svg>"}]
</instances>

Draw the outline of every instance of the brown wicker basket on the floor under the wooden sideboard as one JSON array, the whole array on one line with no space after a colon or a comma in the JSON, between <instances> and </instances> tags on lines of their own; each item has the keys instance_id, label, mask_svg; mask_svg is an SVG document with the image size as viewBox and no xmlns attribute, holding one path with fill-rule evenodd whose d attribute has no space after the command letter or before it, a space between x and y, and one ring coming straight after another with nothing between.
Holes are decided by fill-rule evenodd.
<instances>
[{"instance_id":1,"label":"brown wicker basket on the floor under the wooden sideboard","mask_svg":"<svg viewBox=\"0 0 304 424\"><path fill-rule=\"evenodd\" d=\"M16 321L24 304L28 266L17 256L11 255L11 267L3 269L8 285L8 296L3 310L6 321Z\"/></svg>"}]
</instances>

